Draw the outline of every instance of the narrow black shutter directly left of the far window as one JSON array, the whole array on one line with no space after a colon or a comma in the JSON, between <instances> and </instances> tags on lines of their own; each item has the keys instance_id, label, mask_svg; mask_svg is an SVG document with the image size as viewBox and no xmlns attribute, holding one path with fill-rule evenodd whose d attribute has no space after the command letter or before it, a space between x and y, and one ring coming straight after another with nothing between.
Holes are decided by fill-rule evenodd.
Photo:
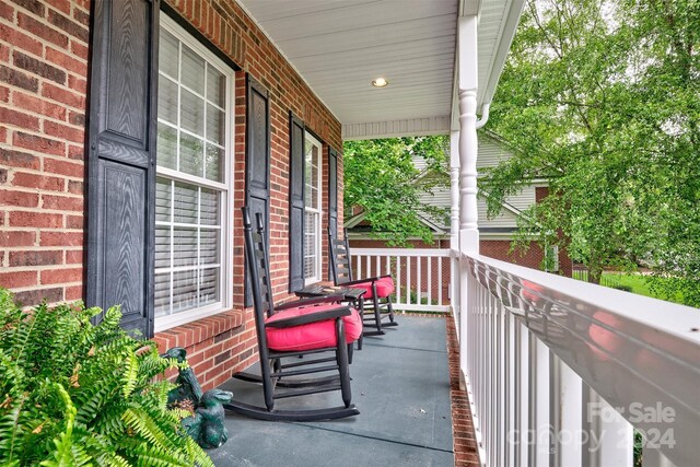
<instances>
[{"instance_id":1,"label":"narrow black shutter directly left of the far window","mask_svg":"<svg viewBox=\"0 0 700 467\"><path fill-rule=\"evenodd\" d=\"M292 113L289 141L289 291L304 288L304 124Z\"/></svg>"}]
</instances>

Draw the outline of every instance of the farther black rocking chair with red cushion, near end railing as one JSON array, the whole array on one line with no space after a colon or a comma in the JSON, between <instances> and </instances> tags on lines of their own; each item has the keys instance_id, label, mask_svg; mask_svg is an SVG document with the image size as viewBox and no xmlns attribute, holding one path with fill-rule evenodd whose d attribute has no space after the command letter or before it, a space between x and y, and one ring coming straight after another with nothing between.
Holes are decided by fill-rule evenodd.
<instances>
[{"instance_id":1,"label":"farther black rocking chair with red cushion, near end railing","mask_svg":"<svg viewBox=\"0 0 700 467\"><path fill-rule=\"evenodd\" d=\"M365 293L360 297L362 320L369 329L363 336L384 335L384 328L398 326L394 320L394 307L390 294L394 293L394 279L390 275L352 279L352 266L350 264L350 243L348 231L343 231L343 240L335 238L332 231L328 229L328 248L330 257L330 270L336 285L364 289ZM385 320L387 319L388 320ZM362 341L360 341L362 342Z\"/></svg>"}]
</instances>

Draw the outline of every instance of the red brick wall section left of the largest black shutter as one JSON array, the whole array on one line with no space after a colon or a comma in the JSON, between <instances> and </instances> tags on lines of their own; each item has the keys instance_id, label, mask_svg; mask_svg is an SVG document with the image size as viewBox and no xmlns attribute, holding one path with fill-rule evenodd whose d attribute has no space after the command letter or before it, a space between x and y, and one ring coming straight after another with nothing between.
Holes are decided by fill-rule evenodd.
<instances>
[{"instance_id":1,"label":"red brick wall section left of the largest black shutter","mask_svg":"<svg viewBox=\"0 0 700 467\"><path fill-rule=\"evenodd\" d=\"M0 284L82 297L90 2L0 0Z\"/></svg>"}]
</instances>

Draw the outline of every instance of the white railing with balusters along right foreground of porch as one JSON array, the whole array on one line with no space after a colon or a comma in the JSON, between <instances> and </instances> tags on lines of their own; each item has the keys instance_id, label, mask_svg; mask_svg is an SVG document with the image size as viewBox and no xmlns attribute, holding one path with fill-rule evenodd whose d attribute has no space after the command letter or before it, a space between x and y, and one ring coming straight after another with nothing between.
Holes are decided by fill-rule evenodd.
<instances>
[{"instance_id":1,"label":"white railing with balusters along right foreground of porch","mask_svg":"<svg viewBox=\"0 0 700 467\"><path fill-rule=\"evenodd\" d=\"M699 465L699 310L483 256L460 271L485 465L632 466L633 430L644 467Z\"/></svg>"}]
</instances>

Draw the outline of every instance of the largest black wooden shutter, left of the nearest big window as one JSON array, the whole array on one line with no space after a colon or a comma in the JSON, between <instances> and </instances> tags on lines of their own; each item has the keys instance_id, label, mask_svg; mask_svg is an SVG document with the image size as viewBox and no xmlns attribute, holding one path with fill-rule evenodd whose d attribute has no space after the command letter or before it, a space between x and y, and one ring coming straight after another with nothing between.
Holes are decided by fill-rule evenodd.
<instances>
[{"instance_id":1,"label":"largest black wooden shutter, left of the nearest big window","mask_svg":"<svg viewBox=\"0 0 700 467\"><path fill-rule=\"evenodd\" d=\"M153 335L159 0L94 1L88 150L88 305L121 304Z\"/></svg>"}]
</instances>

